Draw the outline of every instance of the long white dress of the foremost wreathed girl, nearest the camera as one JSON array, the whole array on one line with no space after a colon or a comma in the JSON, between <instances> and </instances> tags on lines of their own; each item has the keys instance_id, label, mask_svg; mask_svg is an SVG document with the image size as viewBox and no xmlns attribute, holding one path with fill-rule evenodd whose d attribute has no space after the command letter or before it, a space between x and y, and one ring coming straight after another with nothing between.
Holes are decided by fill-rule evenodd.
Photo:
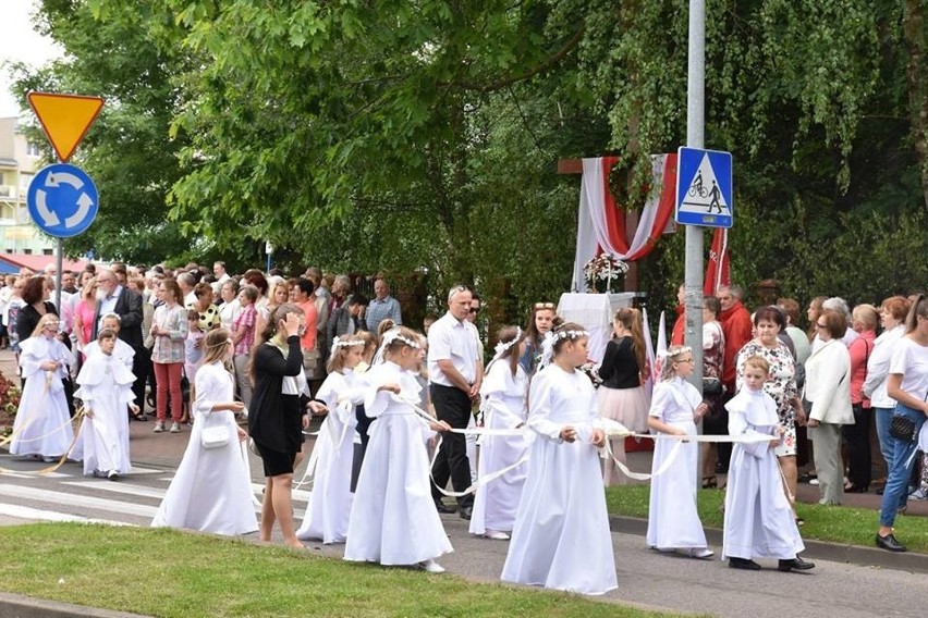
<instances>
[{"instance_id":1,"label":"long white dress of the foremost wreathed girl, nearest the camera","mask_svg":"<svg viewBox=\"0 0 928 618\"><path fill-rule=\"evenodd\" d=\"M557 364L539 371L528 395L535 432L528 474L500 579L581 594L618 588L612 534L602 491L596 391L581 371ZM563 442L573 427L576 441Z\"/></svg>"}]
</instances>

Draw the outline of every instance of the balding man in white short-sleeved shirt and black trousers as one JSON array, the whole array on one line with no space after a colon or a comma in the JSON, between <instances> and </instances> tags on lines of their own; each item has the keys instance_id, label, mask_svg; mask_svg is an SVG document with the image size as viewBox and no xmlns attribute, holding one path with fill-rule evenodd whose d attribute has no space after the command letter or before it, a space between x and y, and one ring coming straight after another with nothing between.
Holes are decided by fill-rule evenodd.
<instances>
[{"instance_id":1,"label":"balding man in white short-sleeved shirt and black trousers","mask_svg":"<svg viewBox=\"0 0 928 618\"><path fill-rule=\"evenodd\" d=\"M471 291L459 285L448 293L448 312L428 331L429 393L438 420L452 428L465 429L471 420L471 404L479 397L484 379L477 330L467 320L471 312ZM441 502L441 492L449 479L455 492L471 486L471 465L464 436L447 433L442 436L431 470L435 485L432 498L439 512L454 512ZM457 498L460 515L471 519L474 495Z\"/></svg>"}]
</instances>

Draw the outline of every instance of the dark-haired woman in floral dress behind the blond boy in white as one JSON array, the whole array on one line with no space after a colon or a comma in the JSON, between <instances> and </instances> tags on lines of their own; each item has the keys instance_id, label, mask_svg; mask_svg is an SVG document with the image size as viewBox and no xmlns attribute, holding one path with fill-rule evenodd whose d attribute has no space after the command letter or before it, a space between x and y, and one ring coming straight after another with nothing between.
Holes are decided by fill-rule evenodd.
<instances>
[{"instance_id":1,"label":"dark-haired woman in floral dress behind the blond boy in white","mask_svg":"<svg viewBox=\"0 0 928 618\"><path fill-rule=\"evenodd\" d=\"M777 307L761 307L754 314L755 338L749 341L737 355L737 382L741 386L744 361L752 356L760 356L770 363L770 375L764 384L764 391L777 403L780 424L785 430L776 454L786 480L791 502L796 495L796 423L805 422L805 412L796 388L795 361L790 348L778 335L785 329L786 321ZM796 518L797 523L802 523Z\"/></svg>"}]
</instances>

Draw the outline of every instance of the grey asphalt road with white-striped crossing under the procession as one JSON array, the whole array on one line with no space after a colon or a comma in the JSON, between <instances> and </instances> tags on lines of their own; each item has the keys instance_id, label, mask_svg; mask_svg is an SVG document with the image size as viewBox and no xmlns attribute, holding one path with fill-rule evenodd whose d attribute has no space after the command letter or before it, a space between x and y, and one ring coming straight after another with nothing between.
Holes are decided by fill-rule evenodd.
<instances>
[{"instance_id":1,"label":"grey asphalt road with white-striped crossing under the procession","mask_svg":"<svg viewBox=\"0 0 928 618\"><path fill-rule=\"evenodd\" d=\"M150 423L133 427L141 432ZM170 436L178 441L171 445L180 447L186 435ZM139 465L133 473L110 482L82 477L76 464L66 464L51 475L29 473L40 466L0 455L0 467L21 471L0 475L0 521L16 523L58 517L147 526L173 474L171 467ZM255 466L253 470L257 472L259 468ZM260 495L260 483L254 487ZM305 492L296 494L298 518L306 497ZM476 581L498 581L508 543L474 537L467 533L464 520L455 515L441 517L454 553L440 558L440 564L450 573ZM703 561L651 552L640 534L620 530L612 540L619 590L603 601L738 618L782 618L786 613L817 618L925 614L924 573L822 560L814 552L806 553L806 558L817 564L809 574L781 573L772 560L761 561L765 569L759 572L737 571L719 559ZM308 543L307 547L333 558L341 558L344 549L342 545L321 543Z\"/></svg>"}]
</instances>

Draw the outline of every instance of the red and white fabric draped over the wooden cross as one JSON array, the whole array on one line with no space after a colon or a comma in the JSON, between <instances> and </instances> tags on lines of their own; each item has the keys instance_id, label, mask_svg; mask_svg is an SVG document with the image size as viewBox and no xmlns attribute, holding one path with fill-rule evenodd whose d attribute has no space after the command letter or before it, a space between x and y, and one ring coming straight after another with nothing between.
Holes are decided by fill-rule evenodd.
<instances>
[{"instance_id":1,"label":"red and white fabric draped over the wooden cross","mask_svg":"<svg viewBox=\"0 0 928 618\"><path fill-rule=\"evenodd\" d=\"M651 186L660 187L660 193L651 191L648 197L630 245L625 236L625 213L619 210L609 191L609 171L616 160L616 157L583 160L577 246L571 285L577 292L587 292L583 274L586 262L601 252L612 254L625 261L647 256L673 214L676 154L651 156Z\"/></svg>"}]
</instances>

